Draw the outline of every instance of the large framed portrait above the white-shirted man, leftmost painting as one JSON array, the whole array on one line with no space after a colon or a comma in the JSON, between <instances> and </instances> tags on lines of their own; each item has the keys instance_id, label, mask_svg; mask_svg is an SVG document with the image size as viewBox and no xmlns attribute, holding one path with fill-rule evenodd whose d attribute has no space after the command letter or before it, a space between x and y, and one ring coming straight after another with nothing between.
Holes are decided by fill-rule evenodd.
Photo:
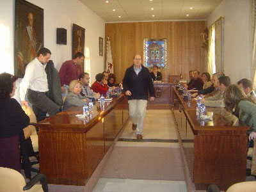
<instances>
[{"instance_id":1,"label":"large framed portrait above the white-shirted man, leftmost painting","mask_svg":"<svg viewBox=\"0 0 256 192\"><path fill-rule=\"evenodd\" d=\"M15 76L23 77L28 63L44 47L44 10L24 0L15 1Z\"/></svg>"}]
</instances>

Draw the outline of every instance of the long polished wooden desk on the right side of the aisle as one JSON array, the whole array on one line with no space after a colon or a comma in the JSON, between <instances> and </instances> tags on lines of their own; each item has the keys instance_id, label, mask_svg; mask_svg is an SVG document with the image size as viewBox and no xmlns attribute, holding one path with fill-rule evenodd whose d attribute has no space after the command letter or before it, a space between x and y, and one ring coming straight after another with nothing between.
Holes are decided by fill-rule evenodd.
<instances>
[{"instance_id":1,"label":"long polished wooden desk on the right side of the aisle","mask_svg":"<svg viewBox=\"0 0 256 192\"><path fill-rule=\"evenodd\" d=\"M226 190L236 182L246 178L247 135L249 127L232 125L227 121L227 111L223 108L207 108L212 114L212 122L196 120L196 102L183 100L173 89L179 100L179 111L173 111L184 167L195 189L207 189L208 184L216 184ZM192 142L192 148L184 143Z\"/></svg>"}]
</instances>

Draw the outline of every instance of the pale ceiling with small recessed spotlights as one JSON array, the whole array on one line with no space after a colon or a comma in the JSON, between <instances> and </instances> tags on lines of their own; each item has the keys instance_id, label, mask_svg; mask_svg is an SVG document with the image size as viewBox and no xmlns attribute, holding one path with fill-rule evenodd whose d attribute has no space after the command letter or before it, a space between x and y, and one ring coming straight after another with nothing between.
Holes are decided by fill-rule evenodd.
<instances>
[{"instance_id":1,"label":"pale ceiling with small recessed spotlights","mask_svg":"<svg viewBox=\"0 0 256 192\"><path fill-rule=\"evenodd\" d=\"M129 20L206 19L223 0L80 1L106 22L124 22Z\"/></svg>"}]
</instances>

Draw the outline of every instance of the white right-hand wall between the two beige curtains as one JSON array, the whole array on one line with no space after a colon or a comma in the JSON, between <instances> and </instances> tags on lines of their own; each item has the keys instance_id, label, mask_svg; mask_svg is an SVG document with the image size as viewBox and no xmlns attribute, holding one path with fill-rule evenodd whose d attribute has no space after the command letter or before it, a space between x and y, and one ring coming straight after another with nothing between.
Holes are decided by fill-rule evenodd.
<instances>
[{"instance_id":1,"label":"white right-hand wall between the two beige curtains","mask_svg":"<svg viewBox=\"0 0 256 192\"><path fill-rule=\"evenodd\" d=\"M249 0L224 0L207 18L210 26L224 17L224 72L231 83L250 79Z\"/></svg>"}]
</instances>

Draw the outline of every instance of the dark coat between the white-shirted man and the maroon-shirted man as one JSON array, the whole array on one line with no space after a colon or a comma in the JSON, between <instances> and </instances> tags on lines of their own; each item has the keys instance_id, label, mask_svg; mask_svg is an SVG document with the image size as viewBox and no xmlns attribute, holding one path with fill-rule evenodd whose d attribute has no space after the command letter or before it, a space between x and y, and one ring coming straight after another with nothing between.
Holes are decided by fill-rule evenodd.
<instances>
[{"instance_id":1,"label":"dark coat between the white-shirted man and the maroon-shirted man","mask_svg":"<svg viewBox=\"0 0 256 192\"><path fill-rule=\"evenodd\" d=\"M62 106L60 76L52 60L47 63L45 72L47 74L49 98L58 106Z\"/></svg>"}]
</instances>

